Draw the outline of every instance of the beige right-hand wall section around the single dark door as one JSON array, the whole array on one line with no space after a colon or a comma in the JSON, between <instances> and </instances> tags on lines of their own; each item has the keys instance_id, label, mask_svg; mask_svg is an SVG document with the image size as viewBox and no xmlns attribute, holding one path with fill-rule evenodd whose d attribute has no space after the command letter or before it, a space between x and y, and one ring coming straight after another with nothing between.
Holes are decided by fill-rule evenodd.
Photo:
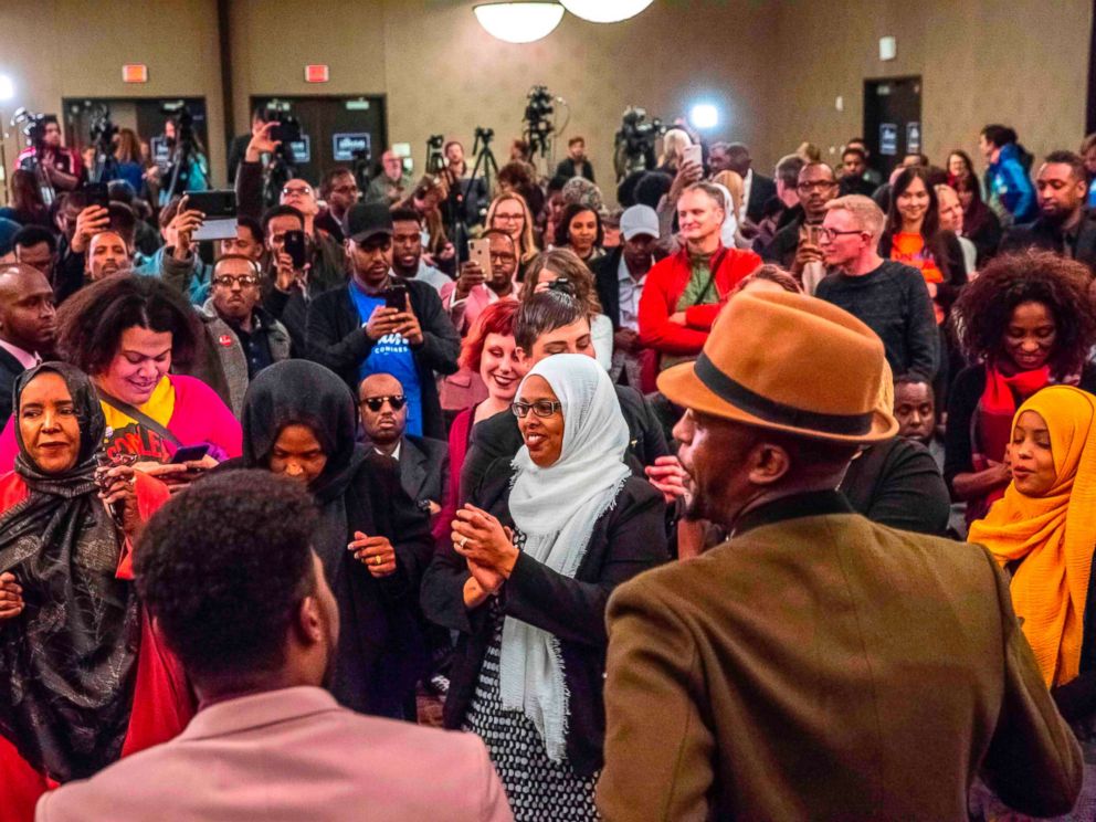
<instances>
[{"instance_id":1,"label":"beige right-hand wall section around the single dark door","mask_svg":"<svg viewBox=\"0 0 1096 822\"><path fill-rule=\"evenodd\" d=\"M1036 155L1076 150L1092 9L1089 0L783 0L784 117L767 119L767 147L780 154L810 139L839 161L844 140L863 129L864 80L920 75L923 146L935 162L963 148L981 168L978 133L994 122ZM878 59L885 35L897 39L894 61Z\"/></svg>"}]
</instances>

